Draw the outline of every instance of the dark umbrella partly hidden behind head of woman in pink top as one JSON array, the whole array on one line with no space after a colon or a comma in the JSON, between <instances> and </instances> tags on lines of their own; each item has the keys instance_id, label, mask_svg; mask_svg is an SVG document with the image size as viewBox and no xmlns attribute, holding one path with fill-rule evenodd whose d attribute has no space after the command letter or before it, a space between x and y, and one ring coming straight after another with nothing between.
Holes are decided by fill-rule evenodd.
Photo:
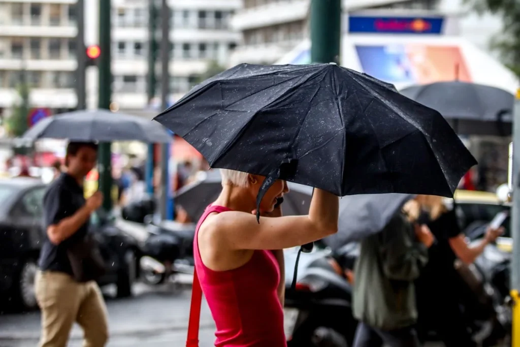
<instances>
[{"instance_id":1,"label":"dark umbrella partly hidden behind head of woman in pink top","mask_svg":"<svg viewBox=\"0 0 520 347\"><path fill-rule=\"evenodd\" d=\"M283 214L308 214L313 189L295 183L288 183L288 185L289 193L283 199ZM207 205L216 200L221 190L222 177L220 172L210 170L202 173L197 182L179 189L175 195L175 203L188 213L192 221L198 221Z\"/></svg>"}]
</instances>

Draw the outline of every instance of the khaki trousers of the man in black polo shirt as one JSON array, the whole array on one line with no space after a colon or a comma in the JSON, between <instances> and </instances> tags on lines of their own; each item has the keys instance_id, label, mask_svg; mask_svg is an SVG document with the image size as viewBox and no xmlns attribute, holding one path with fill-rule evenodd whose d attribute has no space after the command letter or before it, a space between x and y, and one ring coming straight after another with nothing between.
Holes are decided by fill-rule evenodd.
<instances>
[{"instance_id":1,"label":"khaki trousers of the man in black polo shirt","mask_svg":"<svg viewBox=\"0 0 520 347\"><path fill-rule=\"evenodd\" d=\"M84 347L103 347L108 341L107 307L95 281L76 282L71 276L38 271L36 300L42 310L40 347L65 347L77 322Z\"/></svg>"}]
</instances>

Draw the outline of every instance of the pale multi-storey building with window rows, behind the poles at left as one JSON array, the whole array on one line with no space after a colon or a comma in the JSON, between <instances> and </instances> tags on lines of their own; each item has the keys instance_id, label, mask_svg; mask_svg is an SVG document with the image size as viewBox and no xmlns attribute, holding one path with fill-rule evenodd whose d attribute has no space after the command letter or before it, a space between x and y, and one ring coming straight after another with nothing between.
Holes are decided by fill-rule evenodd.
<instances>
[{"instance_id":1,"label":"pale multi-storey building with window rows, behind the poles at left","mask_svg":"<svg viewBox=\"0 0 520 347\"><path fill-rule=\"evenodd\" d=\"M85 43L97 43L98 0L85 2ZM148 107L148 0L112 0L112 100L118 109ZM240 34L229 29L240 0L171 0L172 100L186 93L209 62L225 65ZM23 78L31 107L74 109L76 0L0 0L0 114L8 115ZM160 27L160 25L158 25ZM160 31L160 28L159 28ZM160 33L158 33L160 37ZM87 105L97 104L96 68L87 72ZM160 83L160 63L158 62ZM157 88L160 93L160 85Z\"/></svg>"}]
</instances>

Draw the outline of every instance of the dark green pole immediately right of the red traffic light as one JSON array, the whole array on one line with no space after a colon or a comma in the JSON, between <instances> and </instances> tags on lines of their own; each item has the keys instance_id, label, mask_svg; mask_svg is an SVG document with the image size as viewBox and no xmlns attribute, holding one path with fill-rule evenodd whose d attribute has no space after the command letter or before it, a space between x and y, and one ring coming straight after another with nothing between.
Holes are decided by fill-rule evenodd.
<instances>
[{"instance_id":1,"label":"dark green pole immediately right of the red traffic light","mask_svg":"<svg viewBox=\"0 0 520 347\"><path fill-rule=\"evenodd\" d=\"M99 105L100 109L110 109L112 97L112 71L111 71L111 12L110 0L99 0ZM110 143L99 144L99 190L105 196L103 209L112 210L112 150Z\"/></svg>"}]
</instances>

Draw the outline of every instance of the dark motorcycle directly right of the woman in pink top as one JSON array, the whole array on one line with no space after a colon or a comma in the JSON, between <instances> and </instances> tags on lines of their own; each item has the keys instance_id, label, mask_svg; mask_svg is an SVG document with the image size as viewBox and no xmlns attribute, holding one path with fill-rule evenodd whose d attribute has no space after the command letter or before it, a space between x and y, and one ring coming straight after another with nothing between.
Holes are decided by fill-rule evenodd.
<instances>
[{"instance_id":1,"label":"dark motorcycle directly right of the woman in pink top","mask_svg":"<svg viewBox=\"0 0 520 347\"><path fill-rule=\"evenodd\" d=\"M300 276L292 286L297 253L285 250L285 334L288 346L347 347L357 322L352 316L352 288L330 251L301 253ZM341 319L338 319L341 317Z\"/></svg>"}]
</instances>

